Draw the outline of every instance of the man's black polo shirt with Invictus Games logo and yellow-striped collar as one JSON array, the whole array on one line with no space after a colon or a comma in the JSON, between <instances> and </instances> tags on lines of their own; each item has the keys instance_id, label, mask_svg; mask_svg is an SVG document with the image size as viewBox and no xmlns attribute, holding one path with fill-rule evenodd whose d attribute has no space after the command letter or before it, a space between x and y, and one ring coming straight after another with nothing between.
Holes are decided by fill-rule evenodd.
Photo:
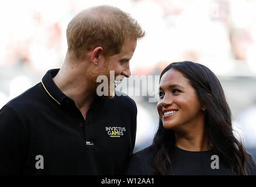
<instances>
[{"instance_id":1,"label":"man's black polo shirt with Invictus Games logo and yellow-striped collar","mask_svg":"<svg viewBox=\"0 0 256 187\"><path fill-rule=\"evenodd\" d=\"M135 143L136 103L97 97L84 119L54 83L57 72L0 110L0 174L122 174Z\"/></svg>"}]
</instances>

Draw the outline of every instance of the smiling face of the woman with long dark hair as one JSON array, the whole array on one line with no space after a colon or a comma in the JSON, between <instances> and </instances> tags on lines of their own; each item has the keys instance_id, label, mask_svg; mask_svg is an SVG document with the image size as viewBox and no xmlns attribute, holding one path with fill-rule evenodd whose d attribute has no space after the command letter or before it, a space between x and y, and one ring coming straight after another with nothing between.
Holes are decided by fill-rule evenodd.
<instances>
[{"instance_id":1,"label":"smiling face of the woman with long dark hair","mask_svg":"<svg viewBox=\"0 0 256 187\"><path fill-rule=\"evenodd\" d=\"M172 68L162 75L159 93L157 110L165 129L187 129L203 122L196 91L180 71Z\"/></svg>"}]
</instances>

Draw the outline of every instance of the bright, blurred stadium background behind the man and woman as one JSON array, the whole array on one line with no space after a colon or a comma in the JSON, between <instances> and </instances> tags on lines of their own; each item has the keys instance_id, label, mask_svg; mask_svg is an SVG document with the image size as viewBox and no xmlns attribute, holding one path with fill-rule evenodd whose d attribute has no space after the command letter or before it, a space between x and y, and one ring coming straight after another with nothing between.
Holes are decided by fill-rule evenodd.
<instances>
[{"instance_id":1,"label":"bright, blurred stadium background behind the man and woman","mask_svg":"<svg viewBox=\"0 0 256 187\"><path fill-rule=\"evenodd\" d=\"M234 129L256 158L256 0L1 1L0 108L47 70L61 67L68 22L82 9L102 4L129 12L146 30L130 63L133 75L160 75L169 63L184 60L215 72ZM148 96L132 98L138 107L135 150L140 150L157 129L157 103Z\"/></svg>"}]
</instances>

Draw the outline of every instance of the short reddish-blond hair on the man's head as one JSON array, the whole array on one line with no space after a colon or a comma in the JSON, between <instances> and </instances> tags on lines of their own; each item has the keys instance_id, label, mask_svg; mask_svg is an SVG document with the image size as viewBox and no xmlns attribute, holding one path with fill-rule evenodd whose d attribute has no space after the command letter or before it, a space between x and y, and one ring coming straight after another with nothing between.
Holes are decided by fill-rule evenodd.
<instances>
[{"instance_id":1,"label":"short reddish-blond hair on the man's head","mask_svg":"<svg viewBox=\"0 0 256 187\"><path fill-rule=\"evenodd\" d=\"M94 6L79 12L68 24L68 53L71 58L82 60L86 51L101 46L104 56L112 56L120 53L125 39L144 35L128 13L113 6Z\"/></svg>"}]
</instances>

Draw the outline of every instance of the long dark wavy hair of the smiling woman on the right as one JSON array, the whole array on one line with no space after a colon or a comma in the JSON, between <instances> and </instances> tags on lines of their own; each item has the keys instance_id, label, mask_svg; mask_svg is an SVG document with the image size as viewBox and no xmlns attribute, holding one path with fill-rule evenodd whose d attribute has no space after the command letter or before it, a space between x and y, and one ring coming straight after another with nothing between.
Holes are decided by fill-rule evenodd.
<instances>
[{"instance_id":1,"label":"long dark wavy hair of the smiling woman on the right","mask_svg":"<svg viewBox=\"0 0 256 187\"><path fill-rule=\"evenodd\" d=\"M205 106L205 127L213 148L226 160L237 175L248 175L248 154L243 144L234 137L231 112L222 85L205 65L183 61L169 64L160 75L170 69L180 71L195 89L199 101ZM166 175L171 171L171 155L175 145L174 130L164 129L160 120L153 140L155 174Z\"/></svg>"}]
</instances>

